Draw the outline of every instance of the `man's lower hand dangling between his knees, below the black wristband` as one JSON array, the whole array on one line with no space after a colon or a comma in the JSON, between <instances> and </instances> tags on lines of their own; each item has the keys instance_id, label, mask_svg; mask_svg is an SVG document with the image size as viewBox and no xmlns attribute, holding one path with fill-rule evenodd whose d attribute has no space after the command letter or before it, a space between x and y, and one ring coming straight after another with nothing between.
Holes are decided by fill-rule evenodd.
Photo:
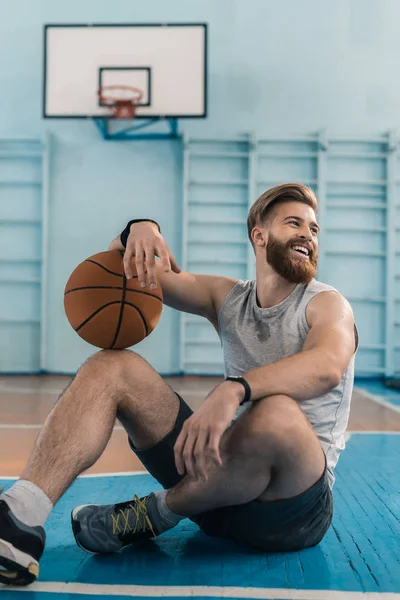
<instances>
[{"instance_id":1,"label":"man's lower hand dangling between his knees, below the black wristband","mask_svg":"<svg viewBox=\"0 0 400 600\"><path fill-rule=\"evenodd\" d=\"M216 387L204 404L185 421L176 440L175 464L180 475L207 480L206 463L222 465L219 445L243 398L240 383L226 381Z\"/></svg>"}]
</instances>

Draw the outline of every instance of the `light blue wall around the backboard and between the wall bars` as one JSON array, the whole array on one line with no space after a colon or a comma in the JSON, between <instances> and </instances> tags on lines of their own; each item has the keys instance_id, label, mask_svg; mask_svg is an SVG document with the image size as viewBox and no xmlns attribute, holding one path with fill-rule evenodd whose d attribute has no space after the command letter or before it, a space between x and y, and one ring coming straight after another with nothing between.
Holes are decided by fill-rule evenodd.
<instances>
[{"instance_id":1,"label":"light blue wall around the backboard and between the wall bars","mask_svg":"<svg viewBox=\"0 0 400 600\"><path fill-rule=\"evenodd\" d=\"M129 217L158 219L179 258L181 150L178 142L104 142L89 122L42 120L43 25L208 22L209 117L181 123L191 135L369 134L400 126L399 17L397 0L0 3L0 138L45 129L53 137L49 370L74 371L93 351L65 320L64 285ZM170 373L177 348L177 319L166 310L140 351Z\"/></svg>"}]
</instances>

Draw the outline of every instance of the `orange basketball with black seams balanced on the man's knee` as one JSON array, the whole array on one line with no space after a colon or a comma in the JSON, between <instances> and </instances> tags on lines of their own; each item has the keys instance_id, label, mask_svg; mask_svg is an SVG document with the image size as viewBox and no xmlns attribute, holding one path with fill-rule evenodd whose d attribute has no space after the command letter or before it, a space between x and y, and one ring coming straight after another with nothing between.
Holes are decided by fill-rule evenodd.
<instances>
[{"instance_id":1,"label":"orange basketball with black seams balanced on the man's knee","mask_svg":"<svg viewBox=\"0 0 400 600\"><path fill-rule=\"evenodd\" d=\"M135 265L126 279L118 250L99 252L84 260L68 279L64 308L76 333L98 348L134 346L157 325L162 291L141 288Z\"/></svg>"}]
</instances>

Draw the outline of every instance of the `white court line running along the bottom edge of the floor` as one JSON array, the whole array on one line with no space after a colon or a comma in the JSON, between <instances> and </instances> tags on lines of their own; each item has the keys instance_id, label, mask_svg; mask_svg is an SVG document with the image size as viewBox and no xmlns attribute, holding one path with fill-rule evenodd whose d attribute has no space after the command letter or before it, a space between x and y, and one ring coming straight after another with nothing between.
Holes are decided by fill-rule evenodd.
<instances>
[{"instance_id":1,"label":"white court line running along the bottom edge of the floor","mask_svg":"<svg viewBox=\"0 0 400 600\"><path fill-rule=\"evenodd\" d=\"M286 588L245 588L221 586L147 586L106 585L94 583L63 583L49 581L29 587L9 587L14 592L49 592L56 594L85 594L88 596L145 596L146 598L245 598L265 600L399 600L395 592L348 592L342 590L294 590ZM7 590L7 591L8 591Z\"/></svg>"}]
</instances>

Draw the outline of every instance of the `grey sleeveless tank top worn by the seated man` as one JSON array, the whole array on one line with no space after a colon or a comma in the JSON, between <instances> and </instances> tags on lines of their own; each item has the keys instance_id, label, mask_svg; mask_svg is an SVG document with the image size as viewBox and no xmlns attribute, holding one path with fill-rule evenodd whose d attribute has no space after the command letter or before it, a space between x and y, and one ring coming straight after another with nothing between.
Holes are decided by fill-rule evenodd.
<instances>
[{"instance_id":1,"label":"grey sleeveless tank top worn by the seated man","mask_svg":"<svg viewBox=\"0 0 400 600\"><path fill-rule=\"evenodd\" d=\"M225 376L242 375L301 352L310 330L306 319L307 304L314 296L326 291L339 293L335 288L313 279L309 284L297 285L276 306L260 308L256 282L238 281L218 311ZM299 403L325 452L331 487L335 482L334 468L345 447L354 358L355 355L337 387L323 396ZM246 408L240 407L235 418Z\"/></svg>"}]
</instances>

